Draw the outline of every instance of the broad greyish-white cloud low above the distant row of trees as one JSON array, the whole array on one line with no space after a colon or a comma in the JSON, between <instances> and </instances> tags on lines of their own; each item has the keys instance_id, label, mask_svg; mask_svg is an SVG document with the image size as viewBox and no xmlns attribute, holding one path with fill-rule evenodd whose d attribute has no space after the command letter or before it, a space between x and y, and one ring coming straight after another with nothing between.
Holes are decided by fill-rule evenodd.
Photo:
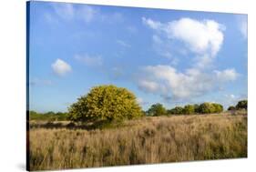
<instances>
[{"instance_id":1,"label":"broad greyish-white cloud low above the distant row of trees","mask_svg":"<svg viewBox=\"0 0 256 172\"><path fill-rule=\"evenodd\" d=\"M146 77L141 82L154 83L154 89L147 89L148 92L159 93L161 96L171 95L173 99L198 96L212 86L208 77L197 69L189 69L183 74L171 66L146 66L143 71Z\"/></svg>"}]
</instances>

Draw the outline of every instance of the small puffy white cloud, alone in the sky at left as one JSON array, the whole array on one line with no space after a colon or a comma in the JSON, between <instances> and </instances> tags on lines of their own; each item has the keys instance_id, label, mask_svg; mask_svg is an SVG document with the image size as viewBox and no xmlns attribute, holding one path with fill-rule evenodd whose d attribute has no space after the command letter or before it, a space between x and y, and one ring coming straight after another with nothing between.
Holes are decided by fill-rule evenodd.
<instances>
[{"instance_id":1,"label":"small puffy white cloud, alone in the sky at left","mask_svg":"<svg viewBox=\"0 0 256 172\"><path fill-rule=\"evenodd\" d=\"M59 58L57 58L56 62L52 64L52 69L57 76L65 76L68 72L72 71L71 66Z\"/></svg>"}]
</instances>

